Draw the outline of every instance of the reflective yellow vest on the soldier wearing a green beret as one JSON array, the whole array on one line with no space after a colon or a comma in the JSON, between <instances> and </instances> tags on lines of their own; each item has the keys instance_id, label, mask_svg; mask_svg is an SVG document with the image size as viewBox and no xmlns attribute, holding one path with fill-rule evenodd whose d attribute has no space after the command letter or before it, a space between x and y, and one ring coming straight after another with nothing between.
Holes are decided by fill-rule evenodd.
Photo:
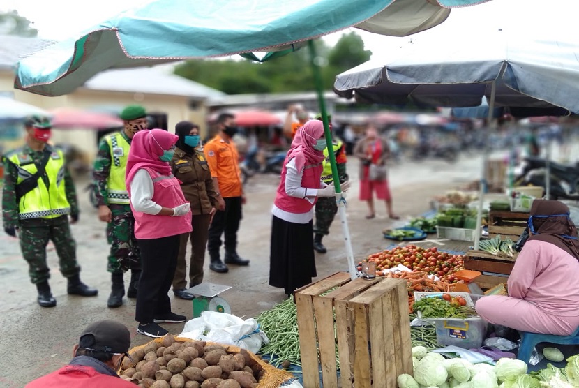
<instances>
[{"instance_id":1,"label":"reflective yellow vest on the soldier wearing a green beret","mask_svg":"<svg viewBox=\"0 0 579 388\"><path fill-rule=\"evenodd\" d=\"M107 179L107 197L110 204L129 204L128 191L125 183L128 151L130 144L120 132L105 136L111 153L111 166Z\"/></svg>"}]
</instances>

